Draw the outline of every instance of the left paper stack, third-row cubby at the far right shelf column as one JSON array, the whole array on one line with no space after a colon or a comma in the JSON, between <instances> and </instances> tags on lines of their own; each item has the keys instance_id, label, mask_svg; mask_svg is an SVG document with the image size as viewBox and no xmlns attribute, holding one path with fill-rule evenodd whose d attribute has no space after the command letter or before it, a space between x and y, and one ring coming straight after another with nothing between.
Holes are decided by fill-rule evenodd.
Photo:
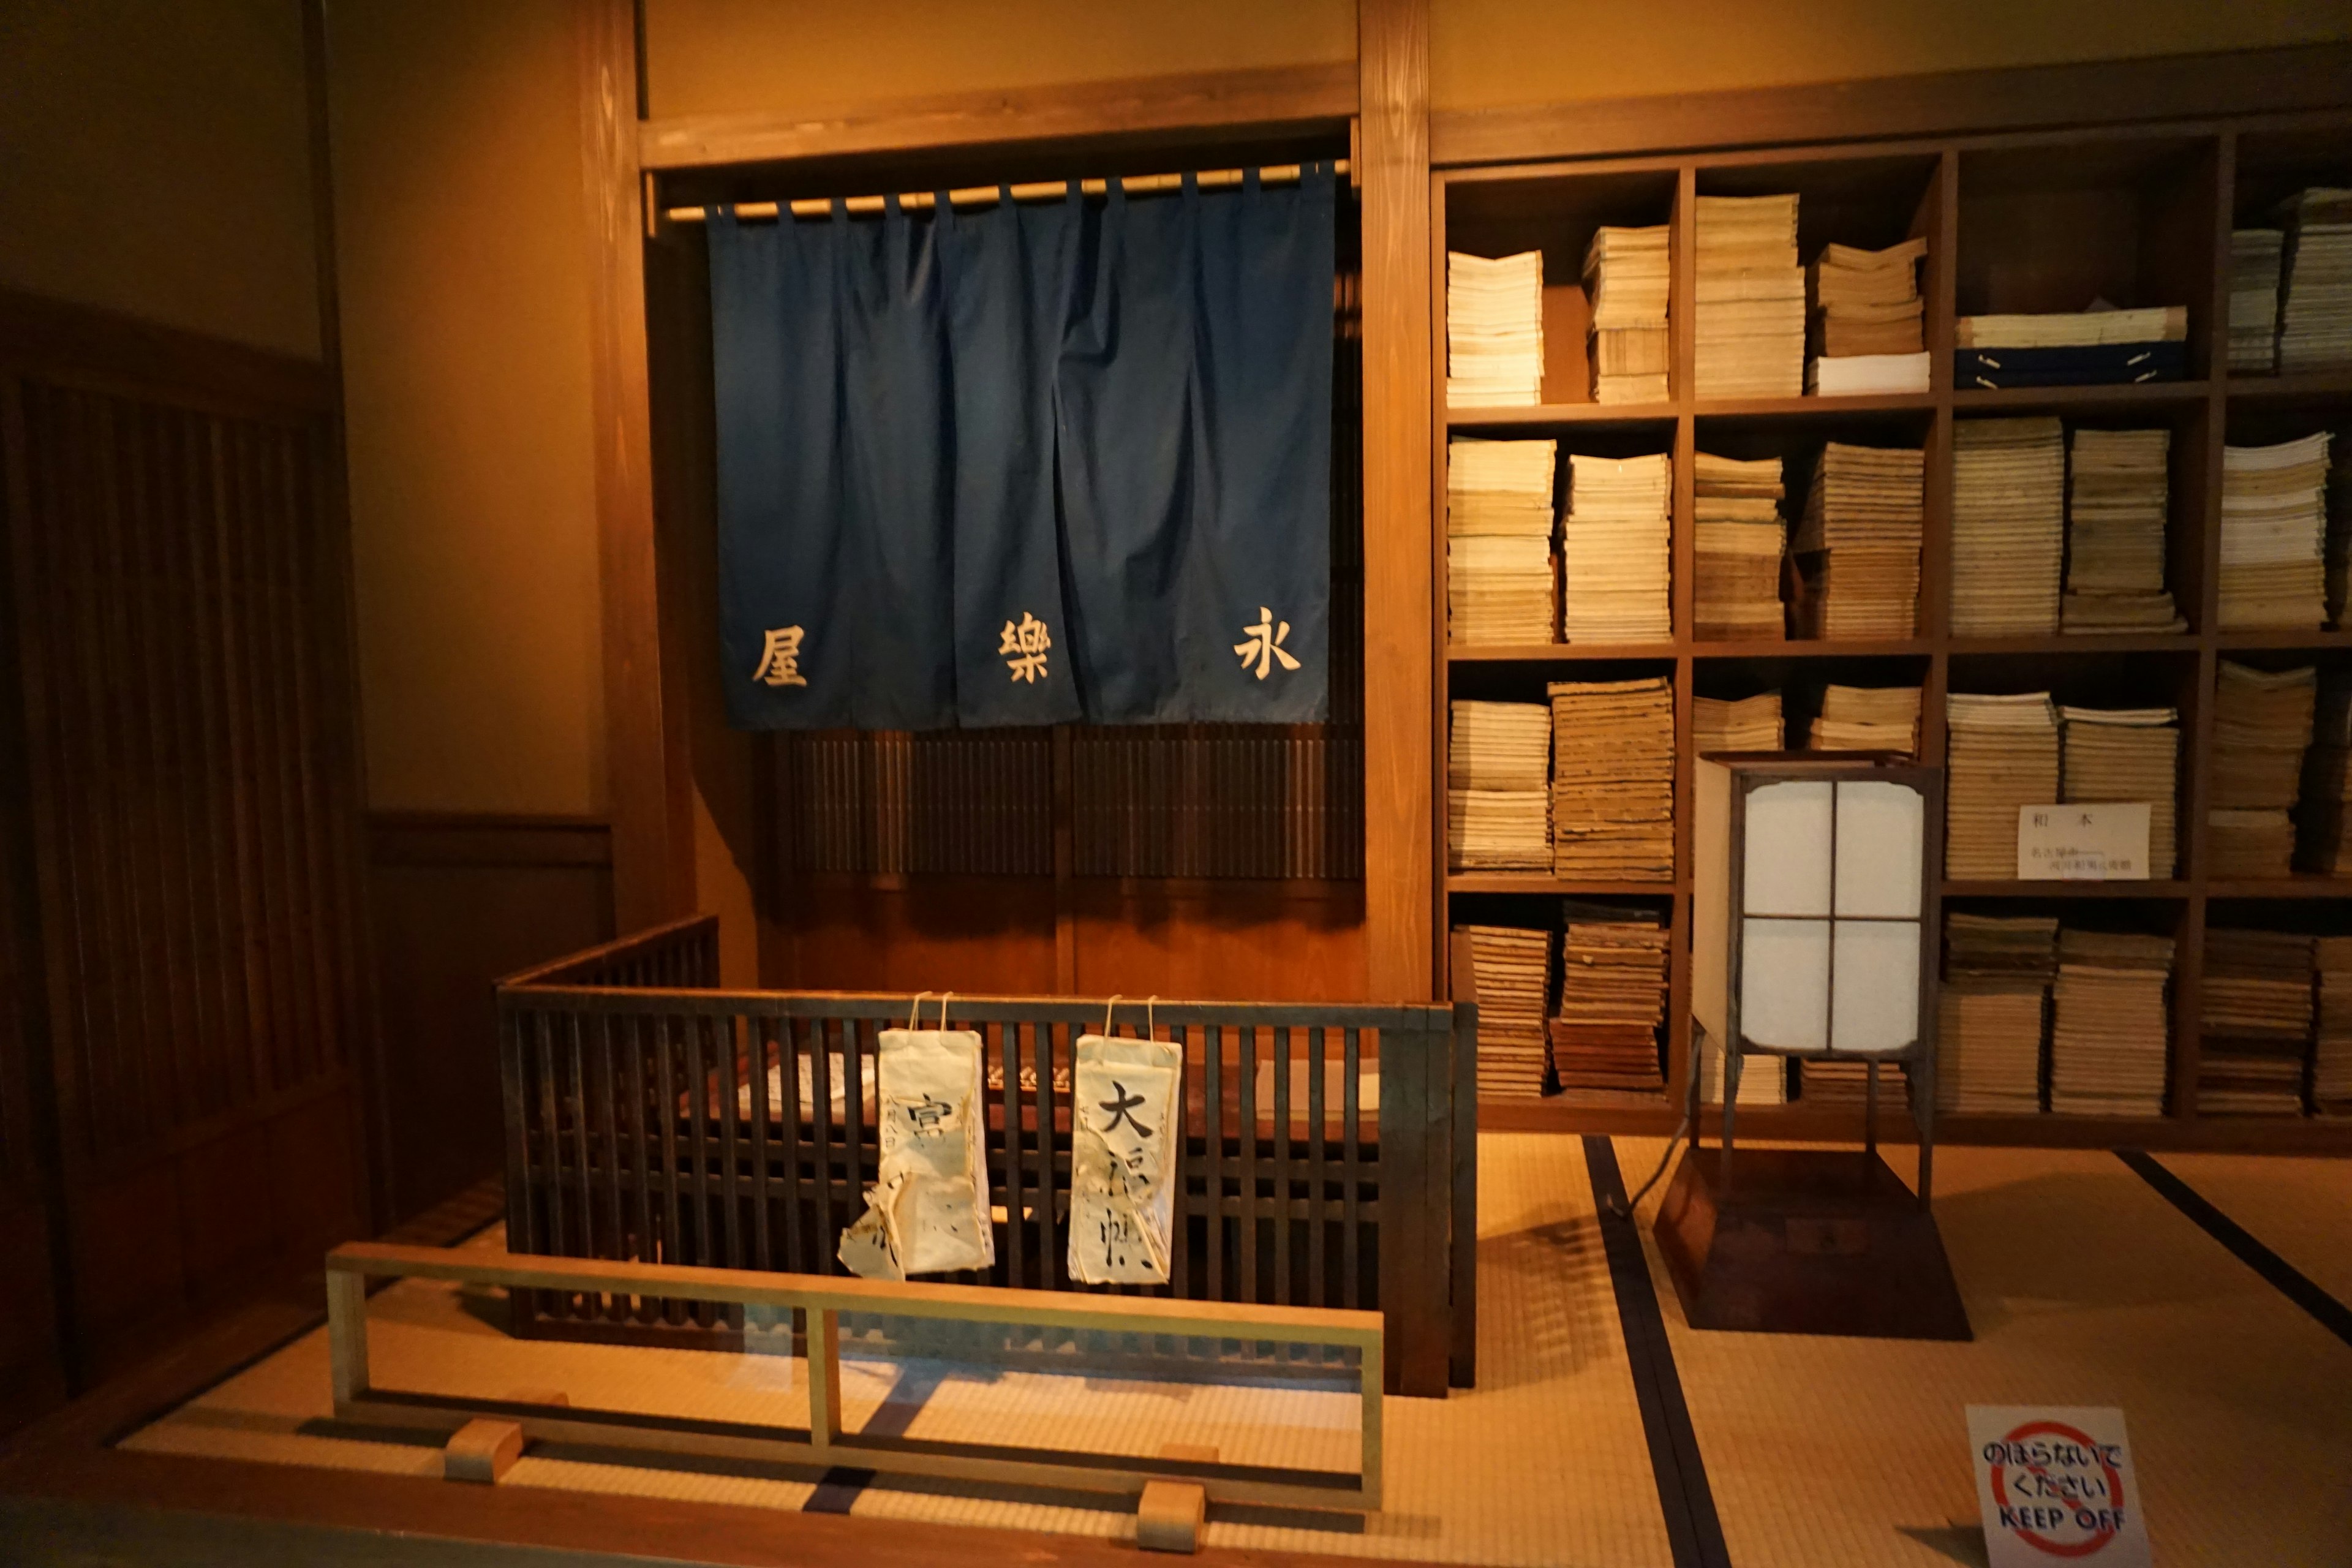
<instances>
[{"instance_id":1,"label":"left paper stack, third-row cubby at the far right shelf column","mask_svg":"<svg viewBox=\"0 0 2352 1568\"><path fill-rule=\"evenodd\" d=\"M2284 877L2296 856L2288 813L2312 745L2319 672L2249 670L2220 661L2213 682L2213 799L2206 875Z\"/></svg>"}]
</instances>

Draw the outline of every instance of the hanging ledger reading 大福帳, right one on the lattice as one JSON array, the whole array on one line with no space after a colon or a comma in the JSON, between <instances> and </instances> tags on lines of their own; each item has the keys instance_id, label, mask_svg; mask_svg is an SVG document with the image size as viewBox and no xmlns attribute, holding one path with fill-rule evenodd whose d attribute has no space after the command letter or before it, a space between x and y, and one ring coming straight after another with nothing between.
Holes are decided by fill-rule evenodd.
<instances>
[{"instance_id":1,"label":"hanging ledger reading \u5927\u798f\u5e33, right one on the lattice","mask_svg":"<svg viewBox=\"0 0 2352 1568\"><path fill-rule=\"evenodd\" d=\"M1183 1180L1183 1046L1080 1034L1070 1072L1070 1279L1164 1286Z\"/></svg>"}]
</instances>

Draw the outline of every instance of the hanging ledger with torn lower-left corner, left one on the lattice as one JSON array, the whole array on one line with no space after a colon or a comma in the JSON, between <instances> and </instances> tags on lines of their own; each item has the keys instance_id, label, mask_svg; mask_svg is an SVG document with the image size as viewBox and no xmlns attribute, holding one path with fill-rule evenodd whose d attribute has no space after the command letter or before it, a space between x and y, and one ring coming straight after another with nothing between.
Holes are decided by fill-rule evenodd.
<instances>
[{"instance_id":1,"label":"hanging ledger with torn lower-left corner, left one on the lattice","mask_svg":"<svg viewBox=\"0 0 2352 1568\"><path fill-rule=\"evenodd\" d=\"M882 1030L880 1161L866 1213L842 1232L842 1267L863 1279L985 1269L988 1112L974 1030Z\"/></svg>"}]
</instances>

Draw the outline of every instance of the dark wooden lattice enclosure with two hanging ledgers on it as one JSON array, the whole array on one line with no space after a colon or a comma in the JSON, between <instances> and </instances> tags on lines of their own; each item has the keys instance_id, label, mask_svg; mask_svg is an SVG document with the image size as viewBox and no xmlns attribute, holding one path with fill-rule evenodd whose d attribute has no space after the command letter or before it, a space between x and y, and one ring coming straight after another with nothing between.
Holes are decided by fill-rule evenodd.
<instances>
[{"instance_id":1,"label":"dark wooden lattice enclosure with two hanging ledgers on it","mask_svg":"<svg viewBox=\"0 0 2352 1568\"><path fill-rule=\"evenodd\" d=\"M835 1274L875 1178L875 1046L913 997L727 992L699 917L499 985L508 1246ZM922 1009L936 1027L938 999ZM1070 1063L1105 1001L955 997L988 1065L997 1262L964 1284L1073 1291ZM1385 1382L1472 1378L1475 1004L1122 1001L1183 1046L1171 1279L1152 1295L1388 1316ZM1127 1291L1136 1293L1136 1291ZM517 1333L729 1342L720 1302L520 1291Z\"/></svg>"}]
</instances>

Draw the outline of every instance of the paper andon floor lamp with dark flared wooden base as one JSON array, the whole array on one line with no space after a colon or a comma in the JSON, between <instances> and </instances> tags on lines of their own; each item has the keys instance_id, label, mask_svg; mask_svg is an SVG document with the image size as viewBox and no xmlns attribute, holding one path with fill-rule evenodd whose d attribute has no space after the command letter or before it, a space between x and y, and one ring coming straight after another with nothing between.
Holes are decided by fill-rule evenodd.
<instances>
[{"instance_id":1,"label":"paper andon floor lamp with dark flared wooden base","mask_svg":"<svg viewBox=\"0 0 2352 1568\"><path fill-rule=\"evenodd\" d=\"M1656 1222L1684 1316L1973 1338L1931 1208L1943 773L1877 752L1712 755L1693 839L1691 1147ZM1700 1143L1703 1041L1724 1051L1717 1147ZM1860 1152L1738 1150L1745 1056L1867 1063ZM1882 1063L1907 1070L1917 1192L1879 1159Z\"/></svg>"}]
</instances>

